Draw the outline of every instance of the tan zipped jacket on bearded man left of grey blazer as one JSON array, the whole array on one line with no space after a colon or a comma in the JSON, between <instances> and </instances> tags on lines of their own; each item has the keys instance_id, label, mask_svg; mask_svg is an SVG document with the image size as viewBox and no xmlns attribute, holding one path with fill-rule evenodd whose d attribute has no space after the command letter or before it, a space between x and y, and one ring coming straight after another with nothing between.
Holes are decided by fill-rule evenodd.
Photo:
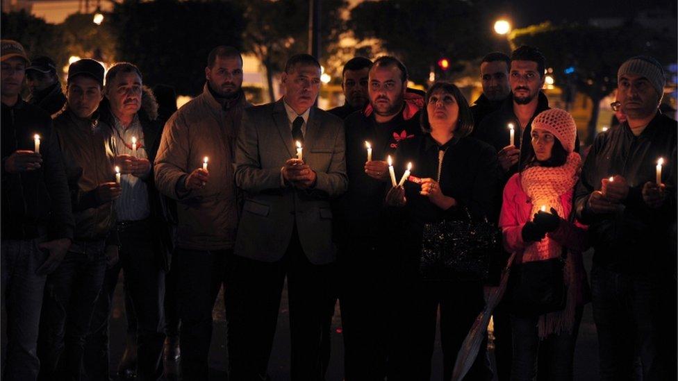
<instances>
[{"instance_id":1,"label":"tan zipped jacket on bearded man left of grey blazer","mask_svg":"<svg viewBox=\"0 0 678 381\"><path fill-rule=\"evenodd\" d=\"M190 250L233 248L238 226L233 153L245 94L222 105L205 84L202 94L177 110L165 124L155 159L160 192L177 201L177 246ZM210 181L199 190L185 189L185 179L207 157Z\"/></svg>"}]
</instances>

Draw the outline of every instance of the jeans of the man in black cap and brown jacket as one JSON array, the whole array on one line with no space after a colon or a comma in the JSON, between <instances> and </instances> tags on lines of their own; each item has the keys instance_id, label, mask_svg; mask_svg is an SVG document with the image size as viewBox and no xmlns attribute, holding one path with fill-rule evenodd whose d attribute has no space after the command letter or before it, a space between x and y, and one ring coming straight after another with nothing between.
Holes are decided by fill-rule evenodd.
<instances>
[{"instance_id":1,"label":"jeans of the man in black cap and brown jacket","mask_svg":"<svg viewBox=\"0 0 678 381\"><path fill-rule=\"evenodd\" d=\"M40 380L80 380L85 337L106 271L104 241L74 242L44 287Z\"/></svg>"}]
</instances>

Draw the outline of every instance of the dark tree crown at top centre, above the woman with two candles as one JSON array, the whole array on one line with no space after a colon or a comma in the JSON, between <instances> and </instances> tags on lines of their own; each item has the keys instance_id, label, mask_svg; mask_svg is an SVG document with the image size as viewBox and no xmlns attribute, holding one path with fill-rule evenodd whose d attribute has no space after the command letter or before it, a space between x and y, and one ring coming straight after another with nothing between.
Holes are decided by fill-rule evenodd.
<instances>
[{"instance_id":1,"label":"dark tree crown at top centre, above the woman with two candles","mask_svg":"<svg viewBox=\"0 0 678 381\"><path fill-rule=\"evenodd\" d=\"M479 1L464 0L365 1L352 10L349 26L358 40L381 40L413 81L425 83L440 58L450 61L447 73L454 73L465 60L489 51L490 24L482 8Z\"/></svg>"}]
</instances>

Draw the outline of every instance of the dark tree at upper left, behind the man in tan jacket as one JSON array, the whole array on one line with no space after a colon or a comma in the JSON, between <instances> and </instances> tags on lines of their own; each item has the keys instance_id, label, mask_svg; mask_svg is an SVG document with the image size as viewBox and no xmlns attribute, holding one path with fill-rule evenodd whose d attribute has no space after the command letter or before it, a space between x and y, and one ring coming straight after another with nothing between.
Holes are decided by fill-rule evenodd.
<instances>
[{"instance_id":1,"label":"dark tree at upper left, behind the man in tan jacket","mask_svg":"<svg viewBox=\"0 0 678 381\"><path fill-rule=\"evenodd\" d=\"M218 45L242 49L245 30L238 4L216 0L125 0L109 24L116 58L138 65L149 84L167 83L178 94L199 94L208 53Z\"/></svg>"}]
</instances>

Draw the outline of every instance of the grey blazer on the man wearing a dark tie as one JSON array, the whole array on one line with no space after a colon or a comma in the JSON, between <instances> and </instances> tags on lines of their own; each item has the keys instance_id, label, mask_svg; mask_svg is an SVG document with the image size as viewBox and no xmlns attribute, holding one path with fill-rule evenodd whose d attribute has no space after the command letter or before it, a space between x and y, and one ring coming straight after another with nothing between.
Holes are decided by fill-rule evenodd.
<instances>
[{"instance_id":1,"label":"grey blazer on the man wearing a dark tie","mask_svg":"<svg viewBox=\"0 0 678 381\"><path fill-rule=\"evenodd\" d=\"M235 142L235 184L245 204L235 254L263 262L280 260L297 224L301 247L313 264L335 260L329 199L347 189L344 126L338 117L311 108L304 161L317 174L313 189L283 187L281 168L296 157L283 101L246 109Z\"/></svg>"}]
</instances>

